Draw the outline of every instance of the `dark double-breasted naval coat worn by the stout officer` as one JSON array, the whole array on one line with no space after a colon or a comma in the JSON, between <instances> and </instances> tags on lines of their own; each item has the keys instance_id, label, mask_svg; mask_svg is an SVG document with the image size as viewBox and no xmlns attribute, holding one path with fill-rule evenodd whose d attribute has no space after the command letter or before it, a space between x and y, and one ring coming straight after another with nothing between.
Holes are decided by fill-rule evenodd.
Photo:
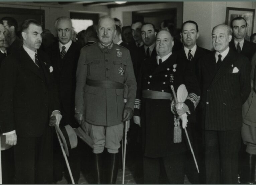
<instances>
[{"instance_id":1,"label":"dark double-breasted naval coat worn by the stout officer","mask_svg":"<svg viewBox=\"0 0 256 185\"><path fill-rule=\"evenodd\" d=\"M173 85L177 92L178 87L185 84L189 94L185 104L193 113L198 104L200 92L194 67L186 66L184 62L177 61L176 58L176 55L172 54L158 65L156 57L151 57L142 64L137 81L134 113L141 116L142 145L146 157L170 156L182 153L189 148L184 129L182 129L182 142L173 142L174 115L171 112L171 100L142 97L143 90L172 94L170 85Z\"/></svg>"}]
</instances>

